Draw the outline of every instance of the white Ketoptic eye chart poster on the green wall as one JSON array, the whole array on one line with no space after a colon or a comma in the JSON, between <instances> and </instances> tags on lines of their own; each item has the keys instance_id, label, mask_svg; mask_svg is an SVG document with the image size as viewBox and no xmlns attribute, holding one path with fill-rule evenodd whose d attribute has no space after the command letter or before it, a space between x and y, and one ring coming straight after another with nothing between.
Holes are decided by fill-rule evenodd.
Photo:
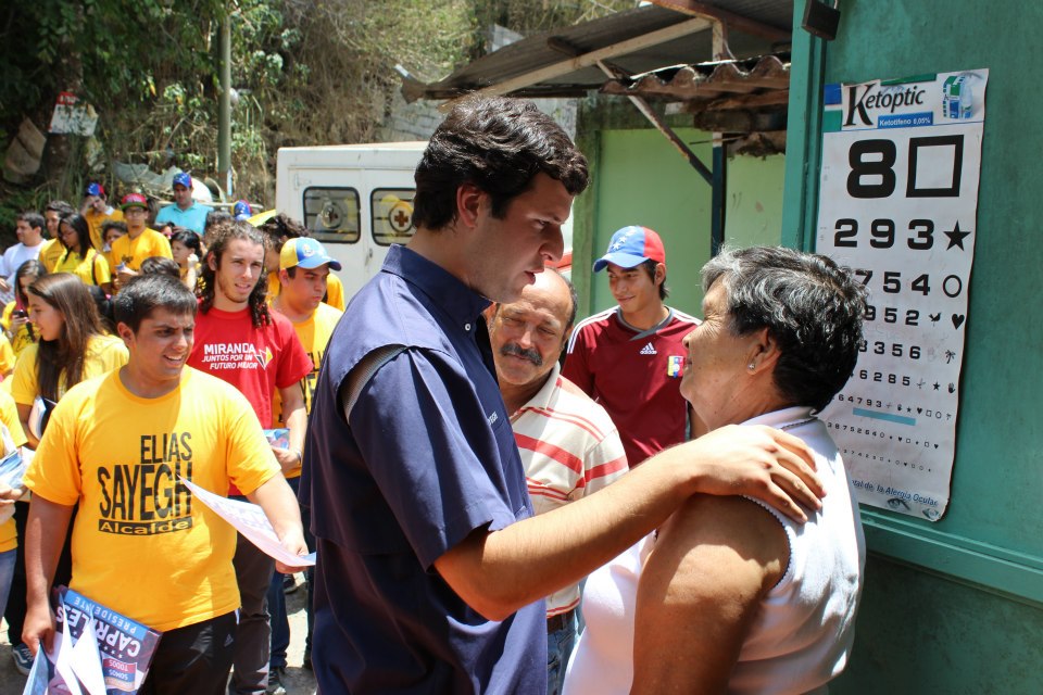
<instances>
[{"instance_id":1,"label":"white Ketoptic eye chart poster on the green wall","mask_svg":"<svg viewBox=\"0 0 1043 695\"><path fill-rule=\"evenodd\" d=\"M938 521L956 454L988 70L826 90L816 251L868 290L822 413L859 502Z\"/></svg>"}]
</instances>

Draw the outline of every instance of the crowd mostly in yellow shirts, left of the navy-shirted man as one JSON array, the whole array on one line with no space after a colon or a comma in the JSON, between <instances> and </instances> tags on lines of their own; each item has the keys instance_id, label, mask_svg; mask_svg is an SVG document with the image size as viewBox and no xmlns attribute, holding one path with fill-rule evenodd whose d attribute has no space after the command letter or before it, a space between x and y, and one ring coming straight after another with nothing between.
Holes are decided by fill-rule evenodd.
<instances>
[{"instance_id":1,"label":"crowd mostly in yellow shirts, left of the navy-shirted man","mask_svg":"<svg viewBox=\"0 0 1043 695\"><path fill-rule=\"evenodd\" d=\"M296 481L310 389L343 309L339 282L327 291L340 264L299 222L275 215L255 227L247 203L214 212L190 202L191 187L177 175L175 203L150 223L141 193L114 210L90 184L79 211L52 201L43 215L21 214L18 243L0 261L4 453L36 450L24 486L0 484L0 607L23 673L37 642L50 642L50 587L71 583L164 632L154 680L167 684L156 692L185 692L229 667L231 692L282 692L292 576L198 506L172 513L163 500L190 498L184 476L255 501L275 509L294 553L306 551ZM264 431L277 429L288 444L268 444ZM146 440L179 446L146 456ZM130 472L141 466L154 478ZM178 520L199 530L183 536ZM169 585L162 601L125 591L125 564L142 557L156 561L131 584ZM199 671L200 635L235 646L205 655Z\"/></svg>"}]
</instances>

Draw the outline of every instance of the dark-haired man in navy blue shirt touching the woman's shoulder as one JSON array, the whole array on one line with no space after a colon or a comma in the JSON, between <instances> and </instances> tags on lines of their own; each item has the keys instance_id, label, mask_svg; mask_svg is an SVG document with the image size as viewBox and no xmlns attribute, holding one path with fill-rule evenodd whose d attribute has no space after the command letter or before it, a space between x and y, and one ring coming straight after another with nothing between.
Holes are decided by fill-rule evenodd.
<instances>
[{"instance_id":1,"label":"dark-haired man in navy blue shirt touching the woman's shoulder","mask_svg":"<svg viewBox=\"0 0 1043 695\"><path fill-rule=\"evenodd\" d=\"M796 440L730 428L533 517L480 314L561 257L587 162L531 103L473 99L415 178L416 233L348 306L315 388L300 493L318 552L315 675L325 695L539 695L542 596L695 492L802 519L793 500L817 505L821 488Z\"/></svg>"}]
</instances>

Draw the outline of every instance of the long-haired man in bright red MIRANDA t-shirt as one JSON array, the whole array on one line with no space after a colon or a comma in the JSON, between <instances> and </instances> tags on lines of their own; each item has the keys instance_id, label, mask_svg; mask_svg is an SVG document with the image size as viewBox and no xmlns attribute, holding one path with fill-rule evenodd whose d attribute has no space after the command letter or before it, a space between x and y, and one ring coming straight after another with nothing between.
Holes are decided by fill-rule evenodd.
<instances>
[{"instance_id":1,"label":"long-haired man in bright red MIRANDA t-shirt","mask_svg":"<svg viewBox=\"0 0 1043 695\"><path fill-rule=\"evenodd\" d=\"M229 220L208 231L206 247L204 290L188 364L239 389L253 406L259 428L271 427L272 399L278 390L290 442L272 451L285 473L301 465L307 426L301 381L312 371L312 359L289 319L268 312L263 235L250 223ZM233 489L228 494L241 493ZM228 692L256 695L268 685L266 594L275 564L241 535L233 564L241 606Z\"/></svg>"}]
</instances>

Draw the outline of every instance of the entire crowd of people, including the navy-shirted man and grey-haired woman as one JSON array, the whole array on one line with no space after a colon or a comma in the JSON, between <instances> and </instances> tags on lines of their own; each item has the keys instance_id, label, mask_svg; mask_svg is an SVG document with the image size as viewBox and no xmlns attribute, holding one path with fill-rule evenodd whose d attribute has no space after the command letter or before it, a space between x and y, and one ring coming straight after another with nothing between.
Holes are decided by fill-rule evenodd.
<instances>
[{"instance_id":1,"label":"entire crowd of people, including the navy-shirted man and grey-haired woman","mask_svg":"<svg viewBox=\"0 0 1043 695\"><path fill-rule=\"evenodd\" d=\"M347 311L300 222L214 212L188 174L151 226L98 184L21 215L0 260L3 442L36 450L0 485L20 668L68 584L163 633L140 692L285 693L301 568L184 478L316 552L296 636L322 693L824 688L865 544L816 414L863 290L824 256L725 250L699 320L665 304L661 237L628 226L593 268L617 305L577 321L552 268L588 180L531 103L456 104L415 233Z\"/></svg>"}]
</instances>

